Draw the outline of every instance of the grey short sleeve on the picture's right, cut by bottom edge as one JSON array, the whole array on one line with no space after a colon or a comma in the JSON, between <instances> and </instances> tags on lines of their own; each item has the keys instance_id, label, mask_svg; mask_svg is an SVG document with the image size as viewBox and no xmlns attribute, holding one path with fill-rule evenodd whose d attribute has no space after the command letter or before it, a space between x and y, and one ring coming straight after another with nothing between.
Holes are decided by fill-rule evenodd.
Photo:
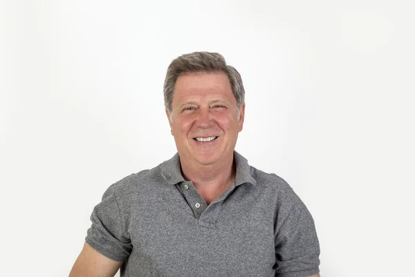
<instances>
[{"instance_id":1,"label":"grey short sleeve on the picture's right, cut by bottom edge","mask_svg":"<svg viewBox=\"0 0 415 277\"><path fill-rule=\"evenodd\" d=\"M275 236L277 277L305 277L319 272L320 246L313 217L299 200Z\"/></svg>"}]
</instances>

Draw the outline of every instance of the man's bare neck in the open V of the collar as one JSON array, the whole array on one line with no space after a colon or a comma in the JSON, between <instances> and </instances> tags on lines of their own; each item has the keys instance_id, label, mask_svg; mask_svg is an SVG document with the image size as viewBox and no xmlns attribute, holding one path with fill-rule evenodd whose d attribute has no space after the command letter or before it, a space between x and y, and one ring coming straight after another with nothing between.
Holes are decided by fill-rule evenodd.
<instances>
[{"instance_id":1,"label":"man's bare neck in the open V of the collar","mask_svg":"<svg viewBox=\"0 0 415 277\"><path fill-rule=\"evenodd\" d=\"M210 204L216 197L230 188L236 175L236 164L233 155L228 161L204 166L194 165L181 161L183 177L192 181L194 188Z\"/></svg>"}]
</instances>

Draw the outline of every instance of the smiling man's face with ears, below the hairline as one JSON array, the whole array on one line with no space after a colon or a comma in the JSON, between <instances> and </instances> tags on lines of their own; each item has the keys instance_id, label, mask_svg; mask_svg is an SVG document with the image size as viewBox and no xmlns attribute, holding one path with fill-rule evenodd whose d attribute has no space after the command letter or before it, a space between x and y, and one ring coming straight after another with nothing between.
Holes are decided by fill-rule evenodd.
<instances>
[{"instance_id":1,"label":"smiling man's face with ears, below the hairline","mask_svg":"<svg viewBox=\"0 0 415 277\"><path fill-rule=\"evenodd\" d=\"M181 159L202 165L220 164L233 157L242 130L245 104L240 107L224 73L192 73L176 81L168 111L172 135Z\"/></svg>"}]
</instances>

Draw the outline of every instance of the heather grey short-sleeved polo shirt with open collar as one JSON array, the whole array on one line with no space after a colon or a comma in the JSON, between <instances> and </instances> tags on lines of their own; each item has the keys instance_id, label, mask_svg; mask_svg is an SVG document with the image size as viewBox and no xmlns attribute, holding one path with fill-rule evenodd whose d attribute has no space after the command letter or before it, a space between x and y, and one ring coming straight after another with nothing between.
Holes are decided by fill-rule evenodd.
<instances>
[{"instance_id":1,"label":"heather grey short-sleeved polo shirt with open collar","mask_svg":"<svg viewBox=\"0 0 415 277\"><path fill-rule=\"evenodd\" d=\"M286 182L234 152L231 188L207 205L180 158L125 177L91 215L86 242L124 262L121 276L317 274L313 218Z\"/></svg>"}]
</instances>

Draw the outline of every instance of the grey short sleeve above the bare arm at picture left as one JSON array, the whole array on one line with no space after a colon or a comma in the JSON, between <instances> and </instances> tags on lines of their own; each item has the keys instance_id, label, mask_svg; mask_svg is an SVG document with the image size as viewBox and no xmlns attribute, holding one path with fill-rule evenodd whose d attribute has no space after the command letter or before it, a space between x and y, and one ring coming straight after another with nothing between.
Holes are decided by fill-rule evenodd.
<instances>
[{"instance_id":1,"label":"grey short sleeve above the bare arm at picture left","mask_svg":"<svg viewBox=\"0 0 415 277\"><path fill-rule=\"evenodd\" d=\"M93 208L91 222L86 243L111 260L124 262L131 253L131 239L112 186L102 196L102 202Z\"/></svg>"}]
</instances>

